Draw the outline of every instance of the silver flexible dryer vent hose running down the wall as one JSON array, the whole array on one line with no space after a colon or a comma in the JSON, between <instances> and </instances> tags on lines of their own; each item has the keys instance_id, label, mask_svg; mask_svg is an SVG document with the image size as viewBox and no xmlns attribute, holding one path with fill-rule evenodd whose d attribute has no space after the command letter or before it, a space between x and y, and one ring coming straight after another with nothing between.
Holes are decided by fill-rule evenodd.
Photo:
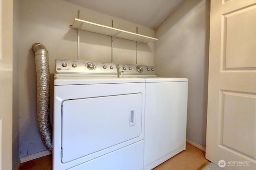
<instances>
[{"instance_id":1,"label":"silver flexible dryer vent hose running down the wall","mask_svg":"<svg viewBox=\"0 0 256 170\"><path fill-rule=\"evenodd\" d=\"M50 70L48 51L42 44L32 45L36 59L36 119L44 146L52 153L52 128L50 126Z\"/></svg>"}]
</instances>

